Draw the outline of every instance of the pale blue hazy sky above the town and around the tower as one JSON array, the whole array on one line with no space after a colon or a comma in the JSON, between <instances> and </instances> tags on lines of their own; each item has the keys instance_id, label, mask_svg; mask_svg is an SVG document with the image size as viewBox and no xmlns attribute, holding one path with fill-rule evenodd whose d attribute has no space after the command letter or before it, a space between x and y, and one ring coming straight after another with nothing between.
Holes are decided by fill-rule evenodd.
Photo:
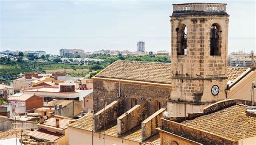
<instances>
[{"instance_id":1,"label":"pale blue hazy sky above the town and around the tower","mask_svg":"<svg viewBox=\"0 0 256 145\"><path fill-rule=\"evenodd\" d=\"M228 52L255 50L255 1L0 0L0 50L170 51L173 3L227 3Z\"/></svg>"}]
</instances>

